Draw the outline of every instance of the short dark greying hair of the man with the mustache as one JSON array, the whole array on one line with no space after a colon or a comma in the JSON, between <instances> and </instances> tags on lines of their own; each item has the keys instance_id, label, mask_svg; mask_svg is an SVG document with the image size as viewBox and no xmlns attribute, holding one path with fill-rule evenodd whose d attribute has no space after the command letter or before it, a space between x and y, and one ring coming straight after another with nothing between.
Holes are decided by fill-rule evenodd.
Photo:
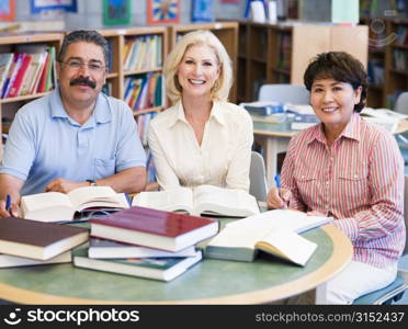
<instances>
[{"instance_id":1,"label":"short dark greying hair of the man with the mustache","mask_svg":"<svg viewBox=\"0 0 408 329\"><path fill-rule=\"evenodd\" d=\"M107 42L106 39L97 31L86 31L78 30L67 34L64 37L61 48L58 54L58 61L64 60L64 56L67 53L68 46L78 42L92 43L100 46L103 52L103 58L107 65Z\"/></svg>"}]
</instances>

